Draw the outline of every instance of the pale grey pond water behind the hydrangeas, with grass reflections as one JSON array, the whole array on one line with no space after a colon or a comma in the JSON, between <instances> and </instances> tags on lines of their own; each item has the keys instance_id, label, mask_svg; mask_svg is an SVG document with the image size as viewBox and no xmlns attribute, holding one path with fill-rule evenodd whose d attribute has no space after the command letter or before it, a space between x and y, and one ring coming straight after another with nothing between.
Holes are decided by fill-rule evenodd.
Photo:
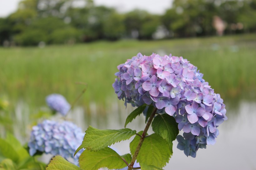
<instances>
[{"instance_id":1,"label":"pale grey pond water behind the hydrangeas, with grass reflections","mask_svg":"<svg viewBox=\"0 0 256 170\"><path fill-rule=\"evenodd\" d=\"M122 129L126 117L134 110L131 106L123 106L122 101L111 100L107 105L106 113L101 114L96 103L91 103L89 108L90 116L84 108L76 107L66 119L72 120L85 131L88 125L98 129ZM234 108L226 105L228 120L219 126L219 136L215 145L207 145L207 149L199 149L196 158L186 157L183 151L176 148L177 141L174 141L173 156L165 166L165 170L175 169L256 169L256 102L241 101ZM16 107L17 123L15 123L14 134L22 143L29 139L31 122L29 122L29 107L19 103ZM61 119L59 115L54 119ZM127 128L137 131L144 130L145 117L140 115ZM148 131L152 134L152 128ZM133 138L132 138L133 139ZM114 144L120 154L130 153L129 143L132 139ZM47 163L51 155L43 155L42 160Z\"/></svg>"}]
</instances>

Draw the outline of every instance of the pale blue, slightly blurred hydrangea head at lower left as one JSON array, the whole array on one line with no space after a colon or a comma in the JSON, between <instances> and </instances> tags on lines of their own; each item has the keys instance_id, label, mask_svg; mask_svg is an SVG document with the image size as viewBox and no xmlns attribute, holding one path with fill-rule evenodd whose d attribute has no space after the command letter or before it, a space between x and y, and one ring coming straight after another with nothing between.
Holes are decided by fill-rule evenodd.
<instances>
[{"instance_id":1,"label":"pale blue, slightly blurred hydrangea head at lower left","mask_svg":"<svg viewBox=\"0 0 256 170\"><path fill-rule=\"evenodd\" d=\"M82 132L81 128L72 122L44 120L32 127L28 143L29 154L32 156L38 150L52 155L61 155L66 159L74 158L74 163L78 164L82 150L75 157L73 155L81 145L84 135L85 133Z\"/></svg>"}]
</instances>

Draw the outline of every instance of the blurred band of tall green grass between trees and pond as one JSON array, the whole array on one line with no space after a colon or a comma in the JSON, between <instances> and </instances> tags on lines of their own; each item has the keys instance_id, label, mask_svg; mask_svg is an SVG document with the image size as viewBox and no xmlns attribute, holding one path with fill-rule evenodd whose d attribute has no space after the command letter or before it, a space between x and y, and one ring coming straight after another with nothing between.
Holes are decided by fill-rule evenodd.
<instances>
[{"instance_id":1,"label":"blurred band of tall green grass between trees and pond","mask_svg":"<svg viewBox=\"0 0 256 170\"><path fill-rule=\"evenodd\" d=\"M79 105L104 106L116 97L112 89L116 66L138 52L183 56L204 73L224 99L253 98L256 91L256 34L159 41L122 40L52 45L43 49L0 48L0 97L15 105L45 105L45 97L61 93L72 102L88 84Z\"/></svg>"}]
</instances>

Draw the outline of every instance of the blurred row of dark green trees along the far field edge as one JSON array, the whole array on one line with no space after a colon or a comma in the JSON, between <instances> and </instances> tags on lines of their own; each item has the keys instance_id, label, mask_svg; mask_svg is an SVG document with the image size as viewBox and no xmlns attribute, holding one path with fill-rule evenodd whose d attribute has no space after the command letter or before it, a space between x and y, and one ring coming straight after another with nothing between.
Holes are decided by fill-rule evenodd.
<instances>
[{"instance_id":1,"label":"blurred row of dark green trees along the far field edge","mask_svg":"<svg viewBox=\"0 0 256 170\"><path fill-rule=\"evenodd\" d=\"M224 34L249 33L256 31L255 18L256 0L174 0L163 15L119 13L93 0L23 0L16 12L0 18L0 44L209 36L218 33L218 24Z\"/></svg>"}]
</instances>

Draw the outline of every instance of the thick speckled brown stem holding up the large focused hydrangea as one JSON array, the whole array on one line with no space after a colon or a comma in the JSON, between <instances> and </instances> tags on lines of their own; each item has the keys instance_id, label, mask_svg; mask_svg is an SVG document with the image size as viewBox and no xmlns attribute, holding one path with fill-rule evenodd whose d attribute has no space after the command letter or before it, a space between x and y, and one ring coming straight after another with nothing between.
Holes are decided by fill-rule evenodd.
<instances>
[{"instance_id":1,"label":"thick speckled brown stem holding up the large focused hydrangea","mask_svg":"<svg viewBox=\"0 0 256 170\"><path fill-rule=\"evenodd\" d=\"M150 126L150 124L151 124L151 122L152 122L152 120L153 120L153 118L154 118L154 116L155 116L156 110L157 110L157 108L154 109L154 111L151 113L151 115L150 115L150 117L149 117L148 123L147 123L147 125L146 125L146 127L145 127L145 129L144 129L144 131L143 131L143 133L142 133L142 135L141 135L139 144L138 144L138 146L137 146L137 148L136 148L136 150L135 150L135 153L134 153L133 156L132 156L131 163L130 163L130 165L129 165L129 167L128 167L128 170L132 170L132 168L133 168L133 165L134 165L134 163L135 163L135 160L137 159L137 156L138 156L138 154L139 154L139 152L140 152L141 145L142 145L142 143L143 143L143 141L144 141L144 139L145 139L145 137L146 137L146 134L147 134L147 131L148 131L148 129L149 129L149 126Z\"/></svg>"}]
</instances>

